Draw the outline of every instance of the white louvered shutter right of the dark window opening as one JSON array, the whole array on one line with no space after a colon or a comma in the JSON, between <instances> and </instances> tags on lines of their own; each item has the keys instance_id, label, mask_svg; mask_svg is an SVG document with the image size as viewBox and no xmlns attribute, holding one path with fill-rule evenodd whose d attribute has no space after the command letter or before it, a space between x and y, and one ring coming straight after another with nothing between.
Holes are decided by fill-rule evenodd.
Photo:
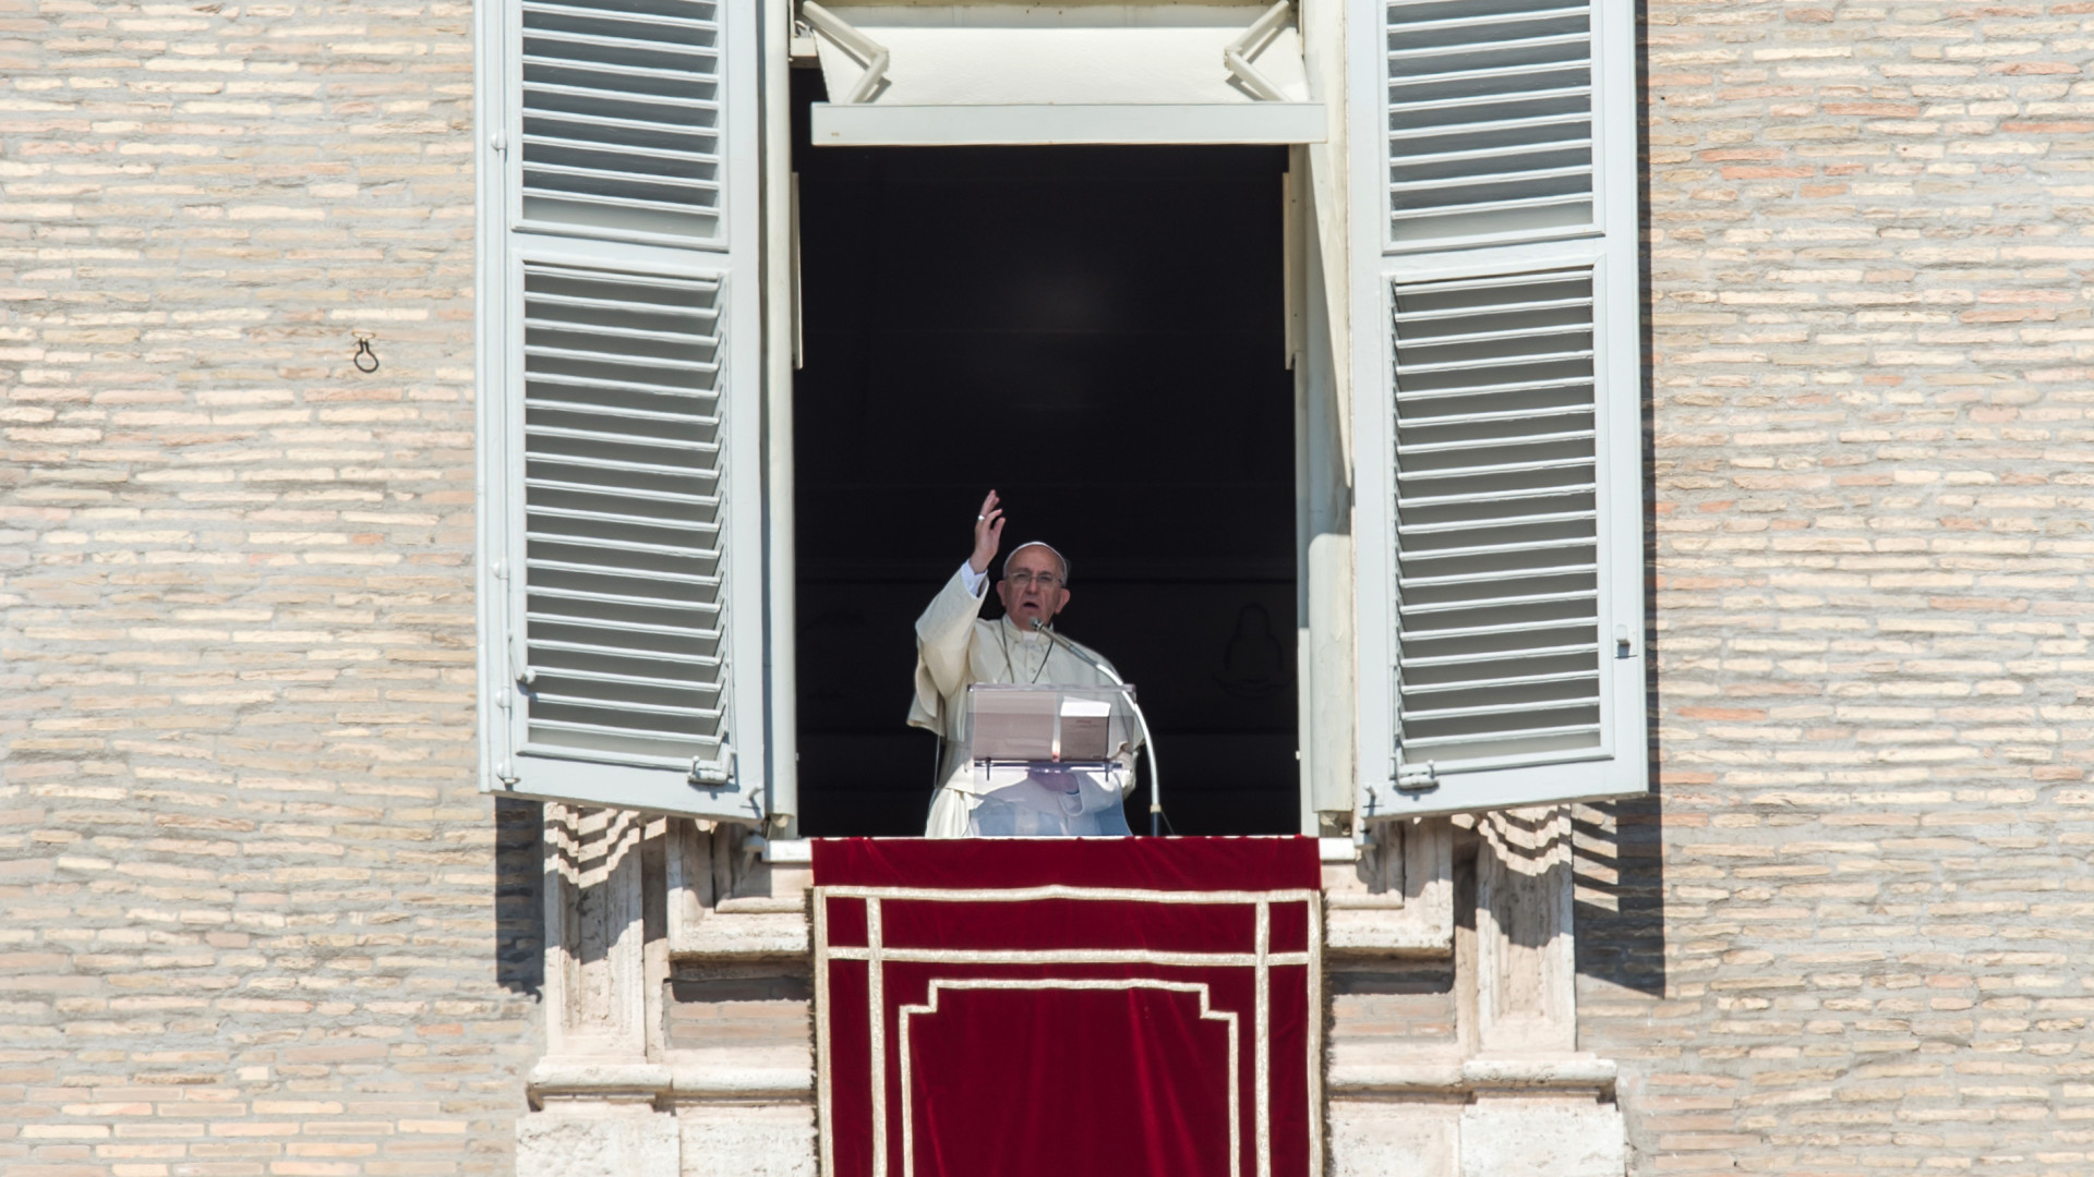
<instances>
[{"instance_id":1,"label":"white louvered shutter right of the dark window opening","mask_svg":"<svg viewBox=\"0 0 2094 1177\"><path fill-rule=\"evenodd\" d=\"M1349 17L1361 813L1642 792L1633 13Z\"/></svg>"}]
</instances>

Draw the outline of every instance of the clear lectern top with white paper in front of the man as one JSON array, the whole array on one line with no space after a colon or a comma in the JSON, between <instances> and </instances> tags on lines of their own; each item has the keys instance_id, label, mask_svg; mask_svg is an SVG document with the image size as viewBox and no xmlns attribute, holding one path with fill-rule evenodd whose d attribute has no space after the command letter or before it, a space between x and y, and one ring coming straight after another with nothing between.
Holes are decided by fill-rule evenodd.
<instances>
[{"instance_id":1,"label":"clear lectern top with white paper in front of the man","mask_svg":"<svg viewBox=\"0 0 2094 1177\"><path fill-rule=\"evenodd\" d=\"M1104 764L1135 743L1135 687L974 683L967 758Z\"/></svg>"}]
</instances>

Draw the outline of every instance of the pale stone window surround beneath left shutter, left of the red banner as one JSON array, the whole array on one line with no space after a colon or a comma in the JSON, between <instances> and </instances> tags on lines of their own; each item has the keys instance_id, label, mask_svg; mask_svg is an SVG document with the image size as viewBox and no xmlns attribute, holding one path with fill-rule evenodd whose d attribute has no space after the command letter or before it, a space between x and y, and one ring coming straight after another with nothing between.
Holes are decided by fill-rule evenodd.
<instances>
[{"instance_id":1,"label":"pale stone window surround beneath left shutter, left of the red banner","mask_svg":"<svg viewBox=\"0 0 2094 1177\"><path fill-rule=\"evenodd\" d=\"M544 846L547 1053L517 1175L806 1171L810 1049L664 1039L672 957L804 957L806 867L766 863L741 827L559 804Z\"/></svg>"}]
</instances>

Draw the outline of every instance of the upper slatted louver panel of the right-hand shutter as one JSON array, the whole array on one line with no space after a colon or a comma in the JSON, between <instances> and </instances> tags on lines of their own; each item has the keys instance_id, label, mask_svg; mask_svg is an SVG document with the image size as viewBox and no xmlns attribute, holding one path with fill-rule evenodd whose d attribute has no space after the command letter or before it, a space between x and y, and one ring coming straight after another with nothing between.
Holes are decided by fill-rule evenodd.
<instances>
[{"instance_id":1,"label":"upper slatted louver panel of the right-hand shutter","mask_svg":"<svg viewBox=\"0 0 2094 1177\"><path fill-rule=\"evenodd\" d=\"M1589 6L1395 0L1386 13L1390 243L1589 226Z\"/></svg>"}]
</instances>

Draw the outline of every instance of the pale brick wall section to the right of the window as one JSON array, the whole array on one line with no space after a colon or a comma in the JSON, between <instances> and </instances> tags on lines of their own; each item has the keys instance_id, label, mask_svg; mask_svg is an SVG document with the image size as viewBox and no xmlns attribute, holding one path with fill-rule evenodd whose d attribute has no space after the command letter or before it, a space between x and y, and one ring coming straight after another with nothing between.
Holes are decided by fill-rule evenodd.
<instances>
[{"instance_id":1,"label":"pale brick wall section to the right of the window","mask_svg":"<svg viewBox=\"0 0 2094 1177\"><path fill-rule=\"evenodd\" d=\"M1648 6L1635 1173L2094 1173L2094 4Z\"/></svg>"}]
</instances>

